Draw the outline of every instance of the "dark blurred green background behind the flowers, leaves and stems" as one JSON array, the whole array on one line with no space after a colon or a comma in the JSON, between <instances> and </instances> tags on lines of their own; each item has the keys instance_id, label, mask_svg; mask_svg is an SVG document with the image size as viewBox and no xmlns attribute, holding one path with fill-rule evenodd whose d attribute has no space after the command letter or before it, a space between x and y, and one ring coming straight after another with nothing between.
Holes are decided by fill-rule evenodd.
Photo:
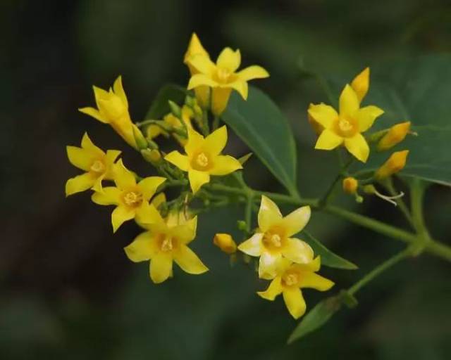
<instances>
[{"instance_id":1,"label":"dark blurred green background behind the flowers, leaves and stems","mask_svg":"<svg viewBox=\"0 0 451 360\"><path fill-rule=\"evenodd\" d=\"M351 79L367 65L451 51L450 20L445 0L1 1L0 359L449 359L451 266L442 260L424 255L398 265L359 293L357 309L286 346L296 322L282 300L257 297L266 283L246 266L230 269L211 245L216 231L235 231L241 209L200 218L193 245L208 274L177 270L156 286L147 264L123 253L137 226L113 236L110 208L94 206L87 194L65 199L63 189L77 174L65 146L78 145L84 131L103 148L124 148L113 131L78 113L94 101L91 85L107 87L123 75L132 117L141 120L159 87L187 83L183 53L196 31L212 56L238 47L243 65L271 73L254 84L290 118L299 188L317 196L336 165L334 154L312 150L307 105L326 96L301 68ZM232 139L229 150L247 149ZM123 157L140 174L152 172L131 150ZM257 159L245 178L281 190ZM357 209L339 201L406 226L388 203L368 199ZM426 221L445 242L450 202L449 188L428 190ZM360 266L323 269L335 291L401 246L321 214L308 229ZM305 293L309 307L323 295Z\"/></svg>"}]
</instances>

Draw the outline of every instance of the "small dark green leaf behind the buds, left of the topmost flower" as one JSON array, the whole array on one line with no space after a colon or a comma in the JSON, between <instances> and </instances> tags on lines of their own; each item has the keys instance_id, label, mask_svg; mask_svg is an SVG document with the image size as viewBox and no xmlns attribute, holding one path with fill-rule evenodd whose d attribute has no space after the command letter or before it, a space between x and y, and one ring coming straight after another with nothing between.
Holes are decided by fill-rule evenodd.
<instances>
[{"instance_id":1,"label":"small dark green leaf behind the buds, left of the topmost flower","mask_svg":"<svg viewBox=\"0 0 451 360\"><path fill-rule=\"evenodd\" d=\"M174 103L183 104L187 94L189 94L187 89L182 86L166 84L160 89L158 94L156 94L144 120L161 119L164 115L171 113L171 106L168 101L171 100Z\"/></svg>"}]
</instances>

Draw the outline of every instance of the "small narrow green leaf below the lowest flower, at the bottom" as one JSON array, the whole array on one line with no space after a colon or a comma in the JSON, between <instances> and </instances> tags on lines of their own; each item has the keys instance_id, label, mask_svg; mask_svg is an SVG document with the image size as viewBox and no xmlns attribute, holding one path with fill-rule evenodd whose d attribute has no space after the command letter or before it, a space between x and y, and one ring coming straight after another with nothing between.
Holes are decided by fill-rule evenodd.
<instances>
[{"instance_id":1,"label":"small narrow green leaf below the lowest flower, at the bottom","mask_svg":"<svg viewBox=\"0 0 451 360\"><path fill-rule=\"evenodd\" d=\"M341 297L328 297L316 304L307 315L305 315L299 325L288 338L288 344L303 338L312 331L321 328L341 307Z\"/></svg>"}]
</instances>

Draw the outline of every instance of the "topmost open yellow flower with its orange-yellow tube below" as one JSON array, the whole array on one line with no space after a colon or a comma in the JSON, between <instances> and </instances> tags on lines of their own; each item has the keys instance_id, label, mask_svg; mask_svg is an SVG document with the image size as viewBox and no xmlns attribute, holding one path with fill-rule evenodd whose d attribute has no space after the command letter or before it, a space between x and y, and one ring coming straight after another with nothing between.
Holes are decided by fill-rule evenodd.
<instances>
[{"instance_id":1,"label":"topmost open yellow flower with its orange-yellow tube below","mask_svg":"<svg viewBox=\"0 0 451 360\"><path fill-rule=\"evenodd\" d=\"M269 74L261 66L252 65L239 72L241 54L240 50L233 51L230 48L223 49L216 60L216 64L209 57L202 54L192 56L188 59L199 73L192 75L188 89L196 89L198 86L210 86L211 111L220 115L227 106L228 98L232 89L240 93L242 98L247 99L247 82L252 79L262 79Z\"/></svg>"}]
</instances>

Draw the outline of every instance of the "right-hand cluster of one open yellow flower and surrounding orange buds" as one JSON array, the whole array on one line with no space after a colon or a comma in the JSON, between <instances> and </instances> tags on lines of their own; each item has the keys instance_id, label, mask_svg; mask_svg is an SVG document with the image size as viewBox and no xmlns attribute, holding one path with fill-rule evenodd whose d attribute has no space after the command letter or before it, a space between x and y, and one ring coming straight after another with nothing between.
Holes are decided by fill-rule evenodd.
<instances>
[{"instance_id":1,"label":"right-hand cluster of one open yellow flower and surrounding orange buds","mask_svg":"<svg viewBox=\"0 0 451 360\"><path fill-rule=\"evenodd\" d=\"M345 85L340 94L338 112L332 106L324 103L309 105L309 122L316 134L319 134L315 145L316 149L333 150L344 146L353 158L365 163L371 152L370 145L373 145L376 151L390 150L401 143L410 133L411 123L401 122L369 136L364 134L384 113L375 105L364 107L361 105L369 91L369 76L370 70L366 68L352 80L351 84ZM396 151L380 168L376 169L376 172L373 172L370 179L359 181L354 176L345 177L342 180L343 191L355 195L356 200L362 202L363 198L358 194L359 186L372 181L384 181L391 175L400 172L406 165L408 154L409 150ZM368 187L366 189L368 190ZM365 192L381 195L378 191ZM391 199L385 195L380 197L385 200Z\"/></svg>"}]
</instances>

